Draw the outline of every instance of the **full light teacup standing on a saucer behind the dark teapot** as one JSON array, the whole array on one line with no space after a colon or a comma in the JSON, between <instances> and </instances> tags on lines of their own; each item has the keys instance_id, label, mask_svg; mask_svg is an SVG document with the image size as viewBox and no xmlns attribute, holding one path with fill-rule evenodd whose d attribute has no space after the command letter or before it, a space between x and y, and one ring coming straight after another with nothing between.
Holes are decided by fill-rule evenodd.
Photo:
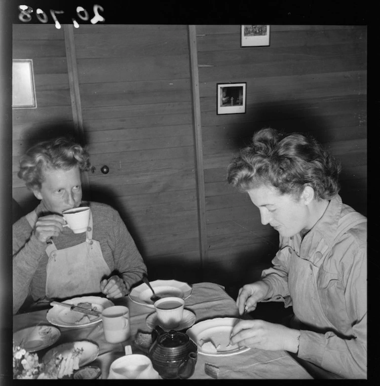
<instances>
[{"instance_id":1,"label":"full light teacup standing on a saucer behind the dark teapot","mask_svg":"<svg viewBox=\"0 0 380 386\"><path fill-rule=\"evenodd\" d=\"M154 309L160 326L166 329L177 327L182 320L185 301L182 298L168 297L157 300Z\"/></svg>"}]
</instances>

